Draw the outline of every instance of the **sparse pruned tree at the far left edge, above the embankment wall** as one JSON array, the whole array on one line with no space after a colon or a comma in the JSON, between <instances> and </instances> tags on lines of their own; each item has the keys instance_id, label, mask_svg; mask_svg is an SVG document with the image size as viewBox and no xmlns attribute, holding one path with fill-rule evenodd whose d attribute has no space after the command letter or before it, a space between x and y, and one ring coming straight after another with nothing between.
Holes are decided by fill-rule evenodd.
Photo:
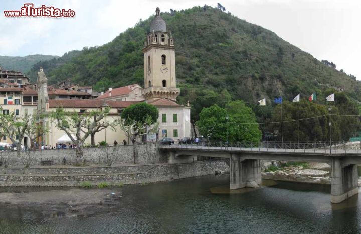
<instances>
[{"instance_id":1,"label":"sparse pruned tree at the far left edge, above the embankment wall","mask_svg":"<svg viewBox=\"0 0 361 234\"><path fill-rule=\"evenodd\" d=\"M3 113L0 108L0 112ZM16 115L15 112L0 114L0 135L9 137L17 147L17 155L21 156L22 141L26 132L34 133L35 118L25 114L24 117Z\"/></svg>"}]
</instances>

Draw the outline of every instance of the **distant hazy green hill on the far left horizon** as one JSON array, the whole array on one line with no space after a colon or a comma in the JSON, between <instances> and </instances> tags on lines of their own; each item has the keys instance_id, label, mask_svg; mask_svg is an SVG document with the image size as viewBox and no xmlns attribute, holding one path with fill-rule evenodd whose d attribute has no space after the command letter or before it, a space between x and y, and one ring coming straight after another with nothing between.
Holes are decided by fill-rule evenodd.
<instances>
[{"instance_id":1,"label":"distant hazy green hill on the far left horizon","mask_svg":"<svg viewBox=\"0 0 361 234\"><path fill-rule=\"evenodd\" d=\"M25 57L0 56L0 67L7 70L16 70L23 73L28 72L34 64L59 58L59 56L34 54Z\"/></svg>"}]
</instances>

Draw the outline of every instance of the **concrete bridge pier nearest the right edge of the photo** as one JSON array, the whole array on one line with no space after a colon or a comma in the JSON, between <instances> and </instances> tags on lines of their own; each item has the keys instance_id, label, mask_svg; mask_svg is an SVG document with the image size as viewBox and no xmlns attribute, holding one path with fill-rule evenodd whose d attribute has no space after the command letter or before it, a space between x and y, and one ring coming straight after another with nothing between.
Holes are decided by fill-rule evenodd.
<instances>
[{"instance_id":1,"label":"concrete bridge pier nearest the right edge of the photo","mask_svg":"<svg viewBox=\"0 0 361 234\"><path fill-rule=\"evenodd\" d=\"M343 165L340 158L331 159L331 203L340 203L358 193L356 164Z\"/></svg>"}]
</instances>

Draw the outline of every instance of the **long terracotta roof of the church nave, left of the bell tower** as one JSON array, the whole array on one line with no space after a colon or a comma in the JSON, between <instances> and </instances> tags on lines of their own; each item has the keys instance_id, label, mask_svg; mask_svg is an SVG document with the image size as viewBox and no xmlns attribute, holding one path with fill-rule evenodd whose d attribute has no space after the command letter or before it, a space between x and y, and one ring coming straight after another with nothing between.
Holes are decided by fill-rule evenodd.
<instances>
[{"instance_id":1,"label":"long terracotta roof of the church nave, left of the bell tower","mask_svg":"<svg viewBox=\"0 0 361 234\"><path fill-rule=\"evenodd\" d=\"M101 101L101 100L49 100L50 108L98 108L104 105L104 102L112 108L126 108L138 101Z\"/></svg>"}]
</instances>

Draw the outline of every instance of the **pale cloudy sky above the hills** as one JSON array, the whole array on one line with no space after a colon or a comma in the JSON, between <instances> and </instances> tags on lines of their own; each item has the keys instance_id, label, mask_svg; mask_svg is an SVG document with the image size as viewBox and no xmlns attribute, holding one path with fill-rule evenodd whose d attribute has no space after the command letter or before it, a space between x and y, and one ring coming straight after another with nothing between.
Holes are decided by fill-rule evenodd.
<instances>
[{"instance_id":1,"label":"pale cloudy sky above the hills","mask_svg":"<svg viewBox=\"0 0 361 234\"><path fill-rule=\"evenodd\" d=\"M260 25L319 60L361 80L361 0L0 0L0 55L63 55L102 45L139 19L162 11L220 2L238 18ZM24 3L72 9L74 18L6 18Z\"/></svg>"}]
</instances>

